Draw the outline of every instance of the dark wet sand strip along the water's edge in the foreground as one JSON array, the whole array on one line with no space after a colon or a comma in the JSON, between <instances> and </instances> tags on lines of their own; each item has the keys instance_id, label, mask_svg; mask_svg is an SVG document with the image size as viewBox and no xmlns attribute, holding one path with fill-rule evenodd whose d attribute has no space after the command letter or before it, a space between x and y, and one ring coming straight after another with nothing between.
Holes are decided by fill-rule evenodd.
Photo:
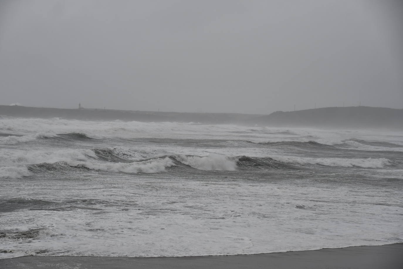
<instances>
[{"instance_id":1,"label":"dark wet sand strip along the water's edge in the foreground","mask_svg":"<svg viewBox=\"0 0 403 269\"><path fill-rule=\"evenodd\" d=\"M285 253L199 257L87 257L26 256L0 260L0 268L310 268L402 269L403 243Z\"/></svg>"}]
</instances>

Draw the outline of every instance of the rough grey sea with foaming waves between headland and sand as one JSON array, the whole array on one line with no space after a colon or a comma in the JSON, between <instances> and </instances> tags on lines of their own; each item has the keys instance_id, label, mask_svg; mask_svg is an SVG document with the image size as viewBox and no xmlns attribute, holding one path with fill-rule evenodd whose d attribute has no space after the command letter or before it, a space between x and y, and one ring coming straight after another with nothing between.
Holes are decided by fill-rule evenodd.
<instances>
[{"instance_id":1,"label":"rough grey sea with foaming waves between headland and sand","mask_svg":"<svg viewBox=\"0 0 403 269\"><path fill-rule=\"evenodd\" d=\"M0 117L0 259L403 242L403 132Z\"/></svg>"}]
</instances>

